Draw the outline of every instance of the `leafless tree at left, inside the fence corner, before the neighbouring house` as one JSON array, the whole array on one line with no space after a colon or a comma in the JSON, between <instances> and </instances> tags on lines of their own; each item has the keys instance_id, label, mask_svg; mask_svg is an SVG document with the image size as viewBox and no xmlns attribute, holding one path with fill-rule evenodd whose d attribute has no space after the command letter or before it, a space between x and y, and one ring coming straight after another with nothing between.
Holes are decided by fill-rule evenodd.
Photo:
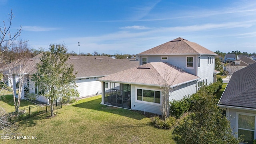
<instances>
[{"instance_id":1,"label":"leafless tree at left, inside the fence corner, before the neighbouring house","mask_svg":"<svg viewBox=\"0 0 256 144\"><path fill-rule=\"evenodd\" d=\"M4 61L6 71L4 71L4 76L12 87L15 111L19 110L20 100L24 98L24 86L29 81L28 75L32 74L34 70L32 67L35 63L30 59L31 56L30 47L22 40L12 43L10 50L6 51ZM16 79L18 79L17 82ZM18 96L16 94L16 86L18 88Z\"/></svg>"}]
</instances>

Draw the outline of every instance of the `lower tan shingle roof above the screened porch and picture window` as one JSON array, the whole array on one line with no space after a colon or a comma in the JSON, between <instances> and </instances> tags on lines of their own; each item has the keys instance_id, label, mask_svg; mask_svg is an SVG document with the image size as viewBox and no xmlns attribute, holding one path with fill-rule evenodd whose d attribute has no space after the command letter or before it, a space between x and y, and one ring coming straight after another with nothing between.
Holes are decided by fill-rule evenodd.
<instances>
[{"instance_id":1,"label":"lower tan shingle roof above the screened porch and picture window","mask_svg":"<svg viewBox=\"0 0 256 144\"><path fill-rule=\"evenodd\" d=\"M99 78L98 80L104 82L159 86L164 82L166 74L168 73L170 73L168 83L173 87L200 79L198 76L189 74L188 72L180 70L166 62L150 62L116 74Z\"/></svg>"}]
</instances>

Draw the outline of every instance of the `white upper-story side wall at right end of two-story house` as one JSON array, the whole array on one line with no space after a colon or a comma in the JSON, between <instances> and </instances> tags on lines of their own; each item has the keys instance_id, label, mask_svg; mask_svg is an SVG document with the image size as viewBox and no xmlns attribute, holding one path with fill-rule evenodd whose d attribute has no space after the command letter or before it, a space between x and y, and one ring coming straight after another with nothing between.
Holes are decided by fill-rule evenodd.
<instances>
[{"instance_id":1,"label":"white upper-story side wall at right end of two-story house","mask_svg":"<svg viewBox=\"0 0 256 144\"><path fill-rule=\"evenodd\" d=\"M213 62L209 62L208 64L208 57L211 57L213 59ZM198 60L198 57L197 57ZM202 55L200 56L200 67L198 67L198 63L196 64L197 66L197 76L202 79L207 78L207 83L208 85L212 82L214 82L214 64L215 64L215 58L214 56L208 56L208 55Z\"/></svg>"}]
</instances>

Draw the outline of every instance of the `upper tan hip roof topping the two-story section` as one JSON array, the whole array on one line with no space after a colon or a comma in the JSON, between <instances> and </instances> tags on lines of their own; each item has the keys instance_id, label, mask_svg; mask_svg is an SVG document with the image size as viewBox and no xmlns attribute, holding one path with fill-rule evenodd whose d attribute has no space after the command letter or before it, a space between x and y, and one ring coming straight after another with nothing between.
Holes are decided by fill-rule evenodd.
<instances>
[{"instance_id":1,"label":"upper tan hip roof topping the two-story section","mask_svg":"<svg viewBox=\"0 0 256 144\"><path fill-rule=\"evenodd\" d=\"M138 55L189 55L189 54L207 54L215 55L214 52L183 38L176 38L170 42L161 44L149 50L139 53Z\"/></svg>"}]
</instances>

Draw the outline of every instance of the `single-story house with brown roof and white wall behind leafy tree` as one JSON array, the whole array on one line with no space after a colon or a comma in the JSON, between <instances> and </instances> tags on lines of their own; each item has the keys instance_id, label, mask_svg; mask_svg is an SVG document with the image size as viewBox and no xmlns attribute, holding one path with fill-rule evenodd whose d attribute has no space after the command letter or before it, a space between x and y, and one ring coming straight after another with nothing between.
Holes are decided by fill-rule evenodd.
<instances>
[{"instance_id":1,"label":"single-story house with brown roof and white wall behind leafy tree","mask_svg":"<svg viewBox=\"0 0 256 144\"><path fill-rule=\"evenodd\" d=\"M40 62L40 55L31 58L30 62ZM98 78L133 68L139 64L128 59L113 59L108 56L70 56L66 63L73 64L74 72L77 72L75 82L78 85L77 90L80 97L101 93L101 83L96 81ZM29 74L29 92L40 95L43 90L39 86L35 86L31 80L31 74L36 71L35 64L31 69L33 71ZM48 101L44 96L39 96L37 100L42 102Z\"/></svg>"}]
</instances>

